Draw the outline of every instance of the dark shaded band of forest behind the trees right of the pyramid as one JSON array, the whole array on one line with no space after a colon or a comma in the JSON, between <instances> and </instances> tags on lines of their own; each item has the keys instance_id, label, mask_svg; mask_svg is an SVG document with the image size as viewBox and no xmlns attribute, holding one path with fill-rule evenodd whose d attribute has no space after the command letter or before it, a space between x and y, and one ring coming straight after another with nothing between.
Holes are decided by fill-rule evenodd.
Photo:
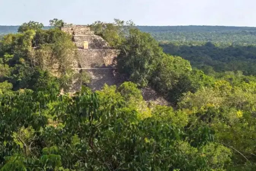
<instances>
[{"instance_id":1,"label":"dark shaded band of forest behind the trees right of the pyramid","mask_svg":"<svg viewBox=\"0 0 256 171\"><path fill-rule=\"evenodd\" d=\"M181 56L207 74L224 71L243 71L245 75L256 74L256 46L224 46L210 42L199 45L162 43L165 53Z\"/></svg>"}]
</instances>

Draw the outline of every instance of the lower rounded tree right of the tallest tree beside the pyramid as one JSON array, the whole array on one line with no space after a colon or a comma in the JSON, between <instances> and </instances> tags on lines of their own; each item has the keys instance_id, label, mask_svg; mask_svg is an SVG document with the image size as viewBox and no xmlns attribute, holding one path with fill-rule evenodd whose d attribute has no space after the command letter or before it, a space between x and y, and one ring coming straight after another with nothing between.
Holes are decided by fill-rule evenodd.
<instances>
[{"instance_id":1,"label":"lower rounded tree right of the tallest tree beside the pyramid","mask_svg":"<svg viewBox=\"0 0 256 171\"><path fill-rule=\"evenodd\" d=\"M181 57L165 55L152 77L152 85L169 101L176 103L185 92L196 92L210 86L213 78L200 70L192 70L190 63Z\"/></svg>"}]
</instances>

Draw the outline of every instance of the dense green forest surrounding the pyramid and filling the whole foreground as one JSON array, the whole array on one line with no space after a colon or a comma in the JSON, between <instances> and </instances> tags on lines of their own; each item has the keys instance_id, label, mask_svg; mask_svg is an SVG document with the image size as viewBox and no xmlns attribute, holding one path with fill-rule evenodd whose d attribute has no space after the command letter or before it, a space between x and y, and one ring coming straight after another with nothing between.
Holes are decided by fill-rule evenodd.
<instances>
[{"instance_id":1,"label":"dense green forest surrounding the pyramid and filling the whole foreground","mask_svg":"<svg viewBox=\"0 0 256 171\"><path fill-rule=\"evenodd\" d=\"M24 23L0 41L0 171L255 170L256 77L252 69L229 71L238 51L162 44L167 54L130 21L95 22L94 33L119 49L125 82L92 92L82 86L87 74L73 70L76 47L60 30L66 24ZM205 74L178 56L200 68L197 53L213 53L225 67L207 63L213 71ZM170 105L145 101L146 87Z\"/></svg>"}]
</instances>

